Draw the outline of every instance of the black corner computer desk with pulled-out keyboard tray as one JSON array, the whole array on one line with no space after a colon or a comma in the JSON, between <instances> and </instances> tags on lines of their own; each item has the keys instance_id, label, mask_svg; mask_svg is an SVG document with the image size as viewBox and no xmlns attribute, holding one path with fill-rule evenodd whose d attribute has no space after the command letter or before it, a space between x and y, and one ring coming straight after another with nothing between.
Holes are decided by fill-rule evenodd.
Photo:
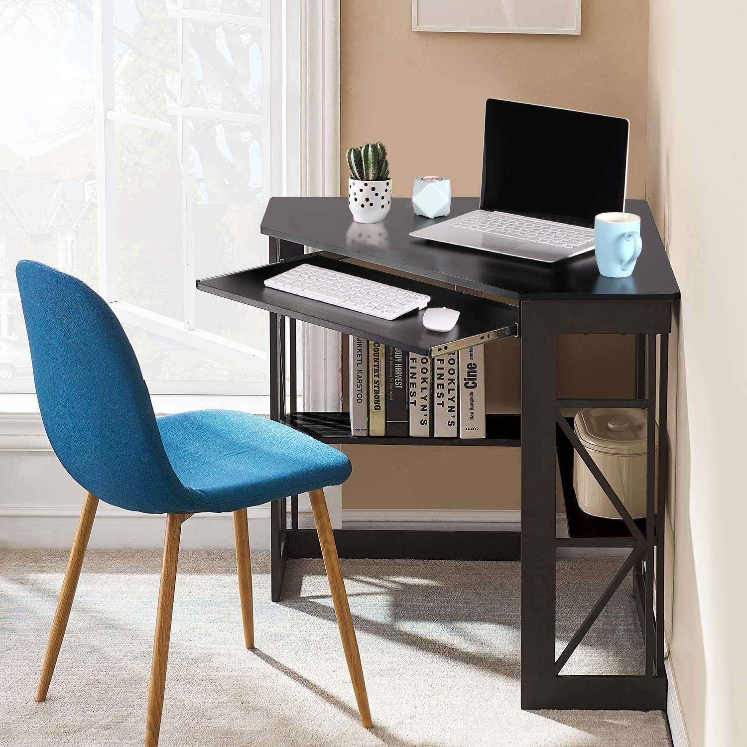
<instances>
[{"instance_id":1,"label":"black corner computer desk with pulled-out keyboard tray","mask_svg":"<svg viewBox=\"0 0 747 747\"><path fill-rule=\"evenodd\" d=\"M477 199L453 199L451 214L474 208ZM270 199L261 224L261 232L270 237L270 264L197 282L201 291L270 311L270 416L274 420L329 444L521 447L521 533L338 530L335 539L341 557L521 560L523 708L666 708L664 512L657 511L655 501L658 492L664 503L667 488L668 335L672 303L680 291L648 204L628 200L627 210L641 217L643 252L632 276L612 279L599 275L593 252L546 265L411 238L410 232L430 221L413 214L409 199L392 199L385 221L365 226L353 223L345 198L276 197ZM305 254L304 247L319 251ZM451 332L429 332L421 324L422 311L387 321L264 287L265 278L299 262L337 267L425 292L432 297L431 306L461 311L459 321ZM407 276L394 276L387 270ZM499 297L505 303L470 291ZM517 336L521 341L521 415L489 415L484 439L354 438L347 413L297 412L296 397L290 397L290 406L285 406L286 371L290 391L297 391L297 320L429 356ZM557 335L602 333L635 335L636 354L630 371L634 396L558 397ZM645 518L630 517L562 414L563 408L595 406L639 407L648 413ZM661 436L658 465L655 421ZM598 519L580 511L573 493L574 450L622 521ZM556 463L560 465L568 537L558 537L556 530ZM319 556L314 530L298 526L297 497L289 498L290 516L286 500L272 503L275 601L282 592L288 557ZM591 547L630 548L630 554L601 598L595 604L589 600L589 615L556 657L556 550ZM563 675L565 662L631 570L645 646L645 672L635 676Z\"/></svg>"}]
</instances>

